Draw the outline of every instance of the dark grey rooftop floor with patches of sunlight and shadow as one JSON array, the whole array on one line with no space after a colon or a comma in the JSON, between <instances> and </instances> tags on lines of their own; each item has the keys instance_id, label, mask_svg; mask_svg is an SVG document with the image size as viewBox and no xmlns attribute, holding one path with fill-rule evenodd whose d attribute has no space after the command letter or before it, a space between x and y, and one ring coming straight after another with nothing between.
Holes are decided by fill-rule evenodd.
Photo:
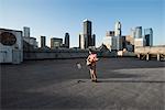
<instances>
[{"instance_id":1,"label":"dark grey rooftop floor with patches of sunlight and shadow","mask_svg":"<svg viewBox=\"0 0 165 110\"><path fill-rule=\"evenodd\" d=\"M81 64L81 68L77 67ZM85 58L1 65L2 110L165 110L165 62Z\"/></svg>"}]
</instances>

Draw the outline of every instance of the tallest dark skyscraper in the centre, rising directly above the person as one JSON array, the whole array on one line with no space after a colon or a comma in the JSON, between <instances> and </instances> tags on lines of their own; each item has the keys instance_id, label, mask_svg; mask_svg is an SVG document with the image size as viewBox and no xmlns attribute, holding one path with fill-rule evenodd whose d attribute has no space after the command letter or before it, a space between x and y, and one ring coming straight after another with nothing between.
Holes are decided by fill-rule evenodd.
<instances>
[{"instance_id":1,"label":"tallest dark skyscraper in the centre, rising directly above the person","mask_svg":"<svg viewBox=\"0 0 165 110\"><path fill-rule=\"evenodd\" d=\"M85 48L92 46L91 30L91 21L84 20Z\"/></svg>"}]
</instances>

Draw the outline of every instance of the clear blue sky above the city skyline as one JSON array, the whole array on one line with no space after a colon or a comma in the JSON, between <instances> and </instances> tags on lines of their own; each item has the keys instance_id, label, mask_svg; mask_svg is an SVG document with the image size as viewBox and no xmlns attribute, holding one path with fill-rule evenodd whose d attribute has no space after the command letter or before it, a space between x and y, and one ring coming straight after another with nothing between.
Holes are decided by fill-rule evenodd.
<instances>
[{"instance_id":1,"label":"clear blue sky above the city skyline","mask_svg":"<svg viewBox=\"0 0 165 110\"><path fill-rule=\"evenodd\" d=\"M0 0L0 28L31 29L31 36L64 38L70 35L70 46L79 46L82 21L92 22L96 46L102 44L107 31L114 30L114 23L122 24L122 35L129 35L131 28L153 29L153 44L165 45L165 0Z\"/></svg>"}]
</instances>

